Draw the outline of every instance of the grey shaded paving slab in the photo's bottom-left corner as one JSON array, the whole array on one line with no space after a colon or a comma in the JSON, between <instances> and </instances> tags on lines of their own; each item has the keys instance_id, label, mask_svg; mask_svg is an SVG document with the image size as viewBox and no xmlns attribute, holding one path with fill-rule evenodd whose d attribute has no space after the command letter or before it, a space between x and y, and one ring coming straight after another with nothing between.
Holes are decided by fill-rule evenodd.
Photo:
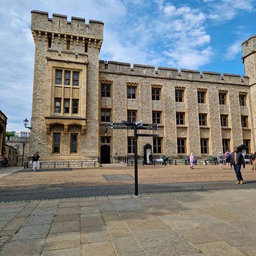
<instances>
[{"instance_id":1,"label":"grey shaded paving slab in the photo's bottom-left corner","mask_svg":"<svg viewBox=\"0 0 256 256\"><path fill-rule=\"evenodd\" d=\"M12 241L6 244L0 256L40 256L45 239Z\"/></svg>"}]
</instances>

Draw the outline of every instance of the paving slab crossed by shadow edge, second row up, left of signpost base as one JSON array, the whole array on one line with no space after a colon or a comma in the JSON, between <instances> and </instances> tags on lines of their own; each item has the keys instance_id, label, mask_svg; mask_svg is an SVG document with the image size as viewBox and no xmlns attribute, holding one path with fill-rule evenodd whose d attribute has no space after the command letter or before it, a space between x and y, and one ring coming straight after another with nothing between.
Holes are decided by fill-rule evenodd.
<instances>
[{"instance_id":1,"label":"paving slab crossed by shadow edge, second row up, left of signpost base","mask_svg":"<svg viewBox=\"0 0 256 256\"><path fill-rule=\"evenodd\" d=\"M81 228L82 244L110 241L106 226L91 226Z\"/></svg>"}]
</instances>

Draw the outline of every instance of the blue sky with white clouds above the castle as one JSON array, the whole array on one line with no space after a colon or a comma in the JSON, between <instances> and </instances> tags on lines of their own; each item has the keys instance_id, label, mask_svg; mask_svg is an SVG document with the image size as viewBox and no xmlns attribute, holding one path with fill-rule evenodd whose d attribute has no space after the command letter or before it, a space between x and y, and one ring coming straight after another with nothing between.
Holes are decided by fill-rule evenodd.
<instances>
[{"instance_id":1,"label":"blue sky with white clouds above the castle","mask_svg":"<svg viewBox=\"0 0 256 256\"><path fill-rule=\"evenodd\" d=\"M256 34L256 0L1 0L0 110L8 131L30 121L31 10L104 22L101 60L244 75L241 44ZM30 125L30 122L29 124Z\"/></svg>"}]
</instances>

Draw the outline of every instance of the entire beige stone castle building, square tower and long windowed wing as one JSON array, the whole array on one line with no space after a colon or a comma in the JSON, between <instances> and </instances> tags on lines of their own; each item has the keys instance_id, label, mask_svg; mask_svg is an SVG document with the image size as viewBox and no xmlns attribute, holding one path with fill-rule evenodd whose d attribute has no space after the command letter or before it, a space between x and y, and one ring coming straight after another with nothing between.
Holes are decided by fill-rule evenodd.
<instances>
[{"instance_id":1,"label":"entire beige stone castle building, square tower and long windowed wing","mask_svg":"<svg viewBox=\"0 0 256 256\"><path fill-rule=\"evenodd\" d=\"M138 155L206 159L244 144L256 150L256 36L242 44L246 76L99 60L103 23L32 11L36 46L30 154L45 161L112 163L132 156L132 130L110 122L159 124L138 138Z\"/></svg>"}]
</instances>

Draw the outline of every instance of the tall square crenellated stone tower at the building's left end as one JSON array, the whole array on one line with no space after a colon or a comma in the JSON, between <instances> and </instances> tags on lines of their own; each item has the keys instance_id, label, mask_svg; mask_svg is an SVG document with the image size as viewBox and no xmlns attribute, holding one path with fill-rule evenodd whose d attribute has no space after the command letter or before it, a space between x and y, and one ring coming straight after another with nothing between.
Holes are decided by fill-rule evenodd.
<instances>
[{"instance_id":1,"label":"tall square crenellated stone tower at the building's left end","mask_svg":"<svg viewBox=\"0 0 256 256\"><path fill-rule=\"evenodd\" d=\"M30 154L39 150L43 160L52 161L94 160L104 24L68 21L60 14L49 18L37 10L31 14L36 49Z\"/></svg>"}]
</instances>

